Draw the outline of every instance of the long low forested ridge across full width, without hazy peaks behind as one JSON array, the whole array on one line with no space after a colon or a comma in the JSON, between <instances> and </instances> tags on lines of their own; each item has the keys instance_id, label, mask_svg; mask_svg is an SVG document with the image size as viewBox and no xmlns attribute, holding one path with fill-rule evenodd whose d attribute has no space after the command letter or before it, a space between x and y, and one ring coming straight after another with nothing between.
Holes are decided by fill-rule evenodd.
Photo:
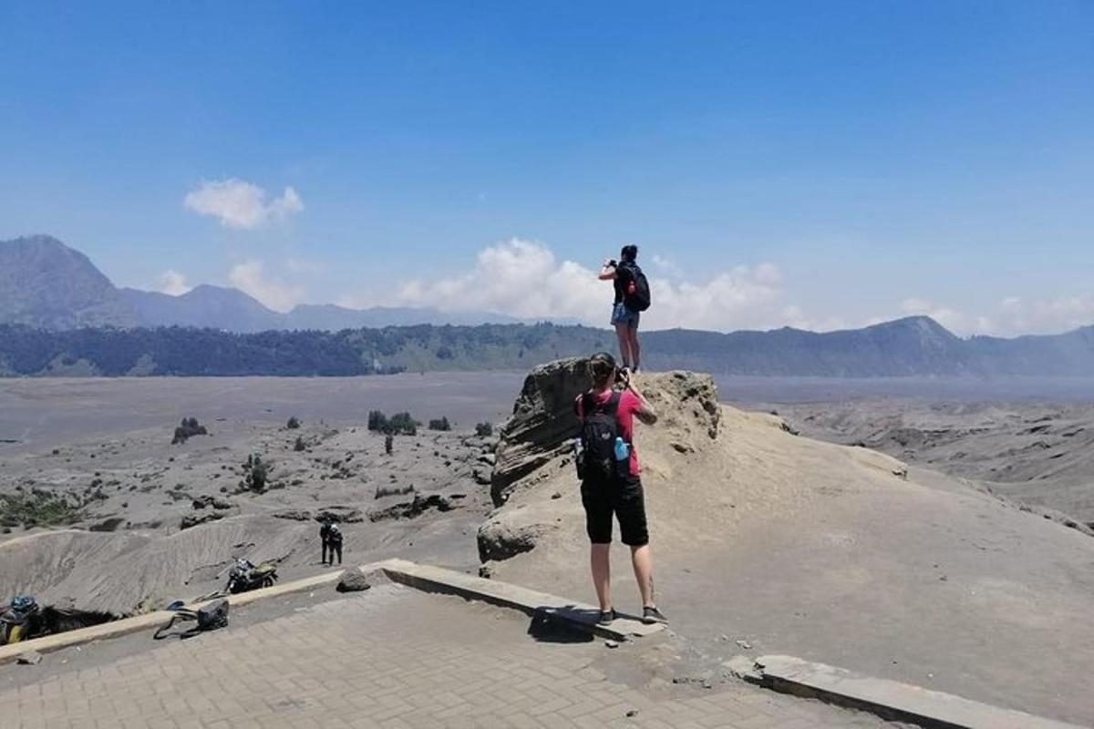
<instances>
[{"instance_id":1,"label":"long low forested ridge across full width, without hazy peaks behind","mask_svg":"<svg viewBox=\"0 0 1094 729\"><path fill-rule=\"evenodd\" d=\"M642 334L643 365L720 375L814 377L1094 375L1094 328L1045 337L962 339L926 317L847 331L667 330ZM561 356L615 350L589 327L482 325L236 334L214 329L0 326L8 376L373 375L529 369Z\"/></svg>"}]
</instances>

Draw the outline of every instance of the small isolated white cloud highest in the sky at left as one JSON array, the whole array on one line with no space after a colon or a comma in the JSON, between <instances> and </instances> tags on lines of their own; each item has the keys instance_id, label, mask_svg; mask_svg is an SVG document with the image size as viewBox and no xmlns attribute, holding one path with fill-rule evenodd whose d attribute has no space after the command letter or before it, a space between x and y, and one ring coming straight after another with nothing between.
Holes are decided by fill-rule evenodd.
<instances>
[{"instance_id":1,"label":"small isolated white cloud highest in the sky at left","mask_svg":"<svg viewBox=\"0 0 1094 729\"><path fill-rule=\"evenodd\" d=\"M254 230L268 223L281 223L304 210L304 203L291 187L281 197L267 200L267 192L252 183L234 177L205 181L186 195L183 204L199 215L210 215L224 227Z\"/></svg>"}]
</instances>

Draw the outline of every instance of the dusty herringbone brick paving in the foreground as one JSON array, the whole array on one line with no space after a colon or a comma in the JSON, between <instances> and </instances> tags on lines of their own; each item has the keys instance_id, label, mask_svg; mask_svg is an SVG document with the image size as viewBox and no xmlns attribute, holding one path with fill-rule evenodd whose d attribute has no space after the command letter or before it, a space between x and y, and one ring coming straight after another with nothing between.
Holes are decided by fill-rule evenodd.
<instances>
[{"instance_id":1,"label":"dusty herringbone brick paving in the foreground","mask_svg":"<svg viewBox=\"0 0 1094 729\"><path fill-rule=\"evenodd\" d=\"M512 611L377 586L361 596L0 693L4 727L815 729L881 720L730 683L610 677L640 644L548 643ZM47 656L47 661L50 657ZM44 663L43 667L46 665ZM648 677L647 677L648 678ZM643 683L635 680L632 683ZM637 712L628 717L629 712ZM8 724L14 715L15 724Z\"/></svg>"}]
</instances>

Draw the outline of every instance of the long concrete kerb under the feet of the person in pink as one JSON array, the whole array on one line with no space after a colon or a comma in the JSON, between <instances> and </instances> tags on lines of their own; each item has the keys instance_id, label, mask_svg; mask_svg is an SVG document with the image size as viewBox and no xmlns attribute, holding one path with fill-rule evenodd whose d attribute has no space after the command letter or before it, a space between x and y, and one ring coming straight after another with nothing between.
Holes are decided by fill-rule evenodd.
<instances>
[{"instance_id":1,"label":"long concrete kerb under the feet of the person in pink","mask_svg":"<svg viewBox=\"0 0 1094 729\"><path fill-rule=\"evenodd\" d=\"M622 615L610 625L598 625L600 609L526 587L465 575L452 569L421 565L406 560L387 560L375 565L393 581L428 592L455 595L502 608L519 610L529 618L538 615L618 642L653 635L664 625L647 625Z\"/></svg>"}]
</instances>

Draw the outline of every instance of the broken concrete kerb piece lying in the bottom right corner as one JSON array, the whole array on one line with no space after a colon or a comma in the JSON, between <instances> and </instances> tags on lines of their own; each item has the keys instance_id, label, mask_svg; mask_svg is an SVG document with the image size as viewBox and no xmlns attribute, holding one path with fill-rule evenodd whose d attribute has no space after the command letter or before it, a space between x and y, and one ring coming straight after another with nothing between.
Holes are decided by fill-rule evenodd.
<instances>
[{"instance_id":1,"label":"broken concrete kerb piece lying in the bottom right corner","mask_svg":"<svg viewBox=\"0 0 1094 729\"><path fill-rule=\"evenodd\" d=\"M927 729L1082 729L792 656L761 656L755 660L737 656L723 666L735 677L772 691L817 698Z\"/></svg>"}]
</instances>

